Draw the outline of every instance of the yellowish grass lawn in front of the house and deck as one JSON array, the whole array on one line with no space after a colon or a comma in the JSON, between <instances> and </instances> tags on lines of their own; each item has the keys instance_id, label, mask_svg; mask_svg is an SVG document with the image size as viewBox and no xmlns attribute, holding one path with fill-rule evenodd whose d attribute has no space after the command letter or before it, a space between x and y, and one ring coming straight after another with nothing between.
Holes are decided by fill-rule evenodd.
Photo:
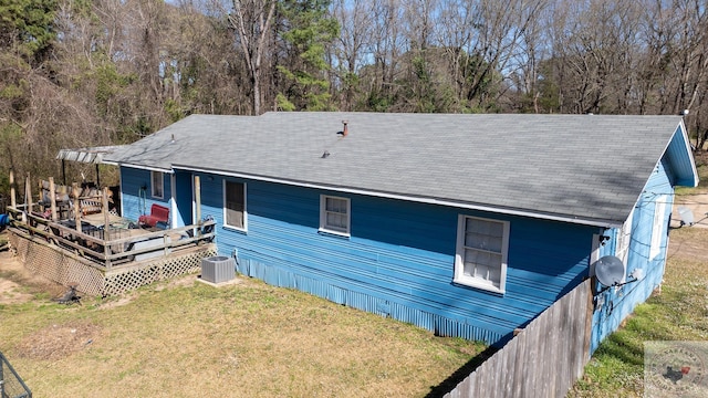
<instances>
[{"instance_id":1,"label":"yellowish grass lawn in front of the house and deck","mask_svg":"<svg viewBox=\"0 0 708 398\"><path fill-rule=\"evenodd\" d=\"M0 277L31 297L0 302L0 350L37 397L420 397L486 348L244 277L70 306Z\"/></svg>"}]
</instances>

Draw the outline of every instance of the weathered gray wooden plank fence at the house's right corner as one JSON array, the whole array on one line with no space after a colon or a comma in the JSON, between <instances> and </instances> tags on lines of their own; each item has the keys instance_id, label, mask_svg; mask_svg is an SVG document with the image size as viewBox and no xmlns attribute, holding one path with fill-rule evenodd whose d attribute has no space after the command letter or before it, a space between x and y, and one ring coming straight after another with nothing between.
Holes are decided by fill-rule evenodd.
<instances>
[{"instance_id":1,"label":"weathered gray wooden plank fence at the house's right corner","mask_svg":"<svg viewBox=\"0 0 708 398\"><path fill-rule=\"evenodd\" d=\"M591 281L533 320L445 397L565 397L590 360Z\"/></svg>"}]
</instances>

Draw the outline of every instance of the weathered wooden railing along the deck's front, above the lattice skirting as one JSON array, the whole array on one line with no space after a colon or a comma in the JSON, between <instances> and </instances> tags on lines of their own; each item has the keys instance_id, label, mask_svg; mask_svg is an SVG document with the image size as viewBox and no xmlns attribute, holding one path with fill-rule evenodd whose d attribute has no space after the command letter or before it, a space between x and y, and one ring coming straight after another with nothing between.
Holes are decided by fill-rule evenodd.
<instances>
[{"instance_id":1,"label":"weathered wooden railing along the deck's front, above the lattice skirting","mask_svg":"<svg viewBox=\"0 0 708 398\"><path fill-rule=\"evenodd\" d=\"M102 228L80 221L79 228L67 227L25 208L23 205L8 207L10 228L15 232L55 244L106 270L129 265L140 254L167 255L181 248L210 242L216 235L215 221L157 231L140 230L139 234L133 234L131 231L136 230L115 228L111 223L104 223Z\"/></svg>"}]
</instances>

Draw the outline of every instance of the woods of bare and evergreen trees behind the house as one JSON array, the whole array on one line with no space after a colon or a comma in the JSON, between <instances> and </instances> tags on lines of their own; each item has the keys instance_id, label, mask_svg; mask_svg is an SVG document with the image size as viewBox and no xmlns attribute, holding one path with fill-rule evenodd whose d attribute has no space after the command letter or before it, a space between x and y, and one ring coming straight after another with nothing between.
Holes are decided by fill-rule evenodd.
<instances>
[{"instance_id":1,"label":"woods of bare and evergreen trees behind the house","mask_svg":"<svg viewBox=\"0 0 708 398\"><path fill-rule=\"evenodd\" d=\"M706 0L0 0L0 193L9 168L58 176L60 148L131 143L192 113L690 109L702 147L707 11Z\"/></svg>"}]
</instances>

